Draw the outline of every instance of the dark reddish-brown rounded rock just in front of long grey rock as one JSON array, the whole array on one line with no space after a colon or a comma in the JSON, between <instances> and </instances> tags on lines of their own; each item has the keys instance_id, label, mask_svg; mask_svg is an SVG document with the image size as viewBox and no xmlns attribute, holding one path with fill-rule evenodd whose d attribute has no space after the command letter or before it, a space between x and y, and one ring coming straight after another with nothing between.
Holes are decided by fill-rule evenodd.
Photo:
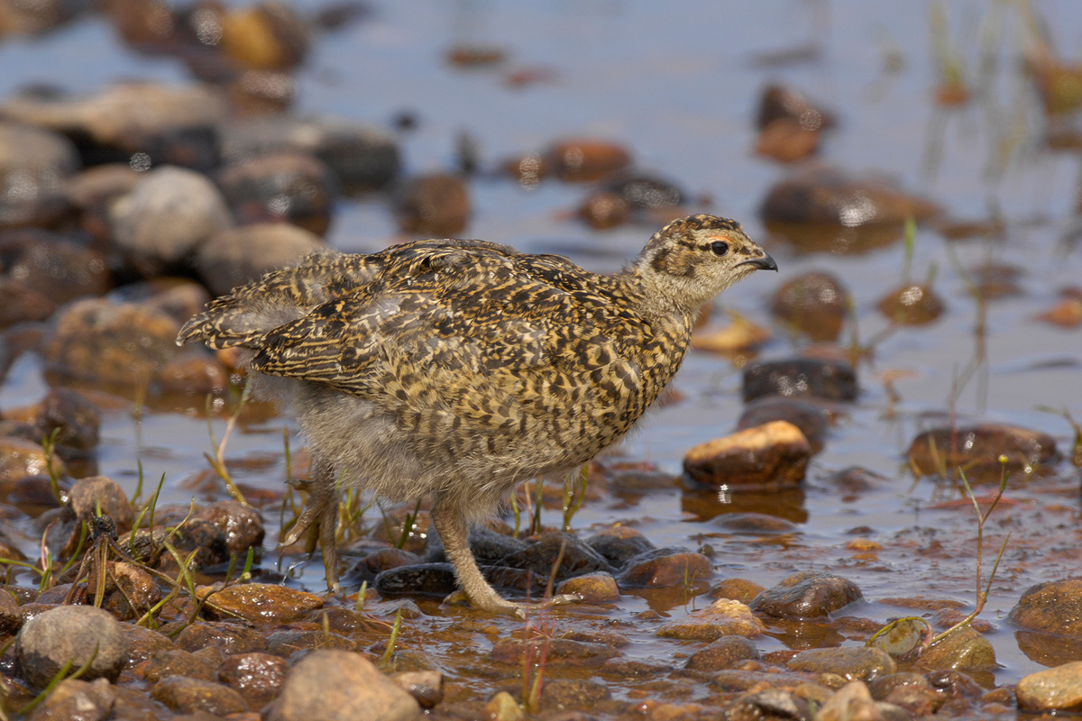
<instances>
[{"instance_id":1,"label":"dark reddish-brown rounded rock just in front of long grey rock","mask_svg":"<svg viewBox=\"0 0 1082 721\"><path fill-rule=\"evenodd\" d=\"M276 152L220 171L216 182L238 223L282 221L322 236L330 226L338 181L320 160Z\"/></svg>"}]
</instances>

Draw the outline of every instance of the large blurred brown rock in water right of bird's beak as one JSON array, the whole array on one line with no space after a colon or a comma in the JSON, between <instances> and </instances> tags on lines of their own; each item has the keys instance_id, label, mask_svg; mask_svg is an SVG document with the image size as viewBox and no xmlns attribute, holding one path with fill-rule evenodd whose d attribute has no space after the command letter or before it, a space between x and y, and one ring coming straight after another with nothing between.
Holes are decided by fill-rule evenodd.
<instances>
[{"instance_id":1,"label":"large blurred brown rock in water right of bird's beak","mask_svg":"<svg viewBox=\"0 0 1082 721\"><path fill-rule=\"evenodd\" d=\"M771 237L805 251L863 252L901 238L902 224L939 212L882 177L861 177L820 163L797 168L760 208Z\"/></svg>"}]
</instances>

